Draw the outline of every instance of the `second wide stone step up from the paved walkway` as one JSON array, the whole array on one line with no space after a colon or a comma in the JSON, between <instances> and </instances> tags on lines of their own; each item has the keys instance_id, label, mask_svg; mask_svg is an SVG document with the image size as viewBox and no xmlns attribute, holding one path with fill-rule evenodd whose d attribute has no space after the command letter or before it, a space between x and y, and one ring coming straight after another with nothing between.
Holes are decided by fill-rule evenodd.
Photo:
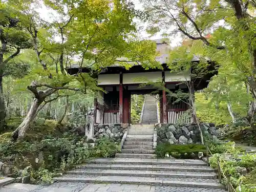
<instances>
[{"instance_id":1,"label":"second wide stone step up from the paved walkway","mask_svg":"<svg viewBox=\"0 0 256 192\"><path fill-rule=\"evenodd\" d=\"M143 171L143 170L112 170L112 169L89 169L89 170L70 170L67 174L74 175L102 175L102 176L133 176L133 177L173 177L173 178L201 178L201 179L217 179L216 173L200 173L200 172L159 172L159 171Z\"/></svg>"}]
</instances>

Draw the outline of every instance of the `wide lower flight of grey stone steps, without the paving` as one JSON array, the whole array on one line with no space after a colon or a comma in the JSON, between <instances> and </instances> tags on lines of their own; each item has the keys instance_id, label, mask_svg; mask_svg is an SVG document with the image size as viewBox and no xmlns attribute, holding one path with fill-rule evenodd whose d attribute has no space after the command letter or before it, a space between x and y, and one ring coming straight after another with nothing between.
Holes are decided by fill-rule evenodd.
<instances>
[{"instance_id":1,"label":"wide lower flight of grey stone steps, without the paving","mask_svg":"<svg viewBox=\"0 0 256 192\"><path fill-rule=\"evenodd\" d=\"M144 144L142 146L150 146ZM201 160L98 158L87 161L86 164L79 165L54 180L69 184L72 182L120 183L180 187L175 191L187 191L187 187L190 187L189 191L225 191L218 183L214 169L206 166ZM198 190L198 188L206 189Z\"/></svg>"}]
</instances>

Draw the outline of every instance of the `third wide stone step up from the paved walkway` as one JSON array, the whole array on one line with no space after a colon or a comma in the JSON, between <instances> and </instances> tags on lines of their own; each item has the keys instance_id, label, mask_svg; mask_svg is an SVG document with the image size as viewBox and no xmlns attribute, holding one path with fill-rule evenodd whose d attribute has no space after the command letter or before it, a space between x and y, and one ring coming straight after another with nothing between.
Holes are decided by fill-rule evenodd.
<instances>
[{"instance_id":1,"label":"third wide stone step up from the paved walkway","mask_svg":"<svg viewBox=\"0 0 256 192\"><path fill-rule=\"evenodd\" d=\"M207 166L179 166L179 165L136 165L136 164L86 164L77 166L81 169L119 169L119 170L155 170L155 171L169 171L169 172L210 172L214 173L215 170Z\"/></svg>"}]
</instances>

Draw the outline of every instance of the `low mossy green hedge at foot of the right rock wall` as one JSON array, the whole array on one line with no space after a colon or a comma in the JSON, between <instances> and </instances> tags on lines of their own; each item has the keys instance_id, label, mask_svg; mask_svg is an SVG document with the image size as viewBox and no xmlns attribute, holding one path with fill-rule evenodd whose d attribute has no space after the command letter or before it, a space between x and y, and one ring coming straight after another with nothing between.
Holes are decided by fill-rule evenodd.
<instances>
[{"instance_id":1,"label":"low mossy green hedge at foot of the right rock wall","mask_svg":"<svg viewBox=\"0 0 256 192\"><path fill-rule=\"evenodd\" d=\"M174 158L195 159L198 158L198 153L206 153L205 146L201 144L168 144L161 143L156 147L155 154L158 158L165 157L165 154L171 155Z\"/></svg>"}]
</instances>

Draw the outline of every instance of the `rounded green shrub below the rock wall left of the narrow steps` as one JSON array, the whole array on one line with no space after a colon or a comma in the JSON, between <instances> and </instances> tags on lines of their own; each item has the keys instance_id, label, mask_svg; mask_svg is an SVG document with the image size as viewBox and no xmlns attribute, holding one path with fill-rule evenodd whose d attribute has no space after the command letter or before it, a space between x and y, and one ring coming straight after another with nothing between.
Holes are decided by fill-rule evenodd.
<instances>
[{"instance_id":1,"label":"rounded green shrub below the rock wall left of the narrow steps","mask_svg":"<svg viewBox=\"0 0 256 192\"><path fill-rule=\"evenodd\" d=\"M102 137L99 139L94 151L97 157L115 157L120 152L120 147L113 140Z\"/></svg>"}]
</instances>

